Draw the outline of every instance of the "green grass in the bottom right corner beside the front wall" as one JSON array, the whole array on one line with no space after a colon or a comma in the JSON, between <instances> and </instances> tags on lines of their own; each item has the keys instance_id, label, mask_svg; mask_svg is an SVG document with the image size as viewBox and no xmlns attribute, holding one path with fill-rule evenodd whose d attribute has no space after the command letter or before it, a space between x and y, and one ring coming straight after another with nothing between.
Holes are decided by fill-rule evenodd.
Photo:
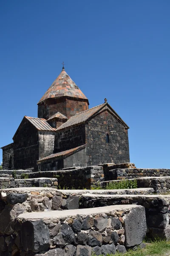
<instances>
[{"instance_id":1,"label":"green grass in the bottom right corner beside the front wall","mask_svg":"<svg viewBox=\"0 0 170 256\"><path fill-rule=\"evenodd\" d=\"M127 253L117 252L114 256L164 256L167 252L170 252L170 241L163 240L150 242L144 249L128 250ZM107 254L107 256L113 256L113 254Z\"/></svg>"}]
</instances>

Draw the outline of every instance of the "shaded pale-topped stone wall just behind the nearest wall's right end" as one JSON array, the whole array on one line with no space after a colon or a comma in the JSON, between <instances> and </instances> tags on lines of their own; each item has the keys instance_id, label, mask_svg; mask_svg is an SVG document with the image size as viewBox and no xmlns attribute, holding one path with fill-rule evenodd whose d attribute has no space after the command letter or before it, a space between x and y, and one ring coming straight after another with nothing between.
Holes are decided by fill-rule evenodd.
<instances>
[{"instance_id":1,"label":"shaded pale-topped stone wall just behind the nearest wall's right end","mask_svg":"<svg viewBox=\"0 0 170 256\"><path fill-rule=\"evenodd\" d=\"M170 195L93 195L83 194L80 208L138 204L145 207L148 231L152 239L170 240ZM160 236L159 236L160 235Z\"/></svg>"}]
</instances>

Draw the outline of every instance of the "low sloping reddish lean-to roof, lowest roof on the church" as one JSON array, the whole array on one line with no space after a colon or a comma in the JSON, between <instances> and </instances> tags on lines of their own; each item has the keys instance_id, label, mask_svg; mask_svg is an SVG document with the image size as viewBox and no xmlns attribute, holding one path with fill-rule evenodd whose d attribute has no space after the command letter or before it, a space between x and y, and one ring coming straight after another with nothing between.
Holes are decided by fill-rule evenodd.
<instances>
[{"instance_id":1,"label":"low sloping reddish lean-to roof, lowest roof on the church","mask_svg":"<svg viewBox=\"0 0 170 256\"><path fill-rule=\"evenodd\" d=\"M68 150L65 150L65 151L62 151L62 152L58 152L56 154L51 154L48 157L43 157L42 159L38 160L37 163L48 160L48 159L57 158L57 157L68 157L72 154L75 154L76 152L80 151L81 149L83 149L85 147L86 147L86 144L81 145L77 148L71 148L71 149L68 149Z\"/></svg>"}]
</instances>

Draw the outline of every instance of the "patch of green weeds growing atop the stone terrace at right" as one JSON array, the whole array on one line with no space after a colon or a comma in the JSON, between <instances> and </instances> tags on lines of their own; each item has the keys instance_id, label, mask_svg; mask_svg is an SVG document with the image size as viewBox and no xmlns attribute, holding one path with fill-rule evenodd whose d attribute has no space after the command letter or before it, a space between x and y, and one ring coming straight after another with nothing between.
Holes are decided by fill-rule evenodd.
<instances>
[{"instance_id":1,"label":"patch of green weeds growing atop the stone terrace at right","mask_svg":"<svg viewBox=\"0 0 170 256\"><path fill-rule=\"evenodd\" d=\"M137 180L120 180L119 182L109 182L105 189L137 189Z\"/></svg>"}]
</instances>

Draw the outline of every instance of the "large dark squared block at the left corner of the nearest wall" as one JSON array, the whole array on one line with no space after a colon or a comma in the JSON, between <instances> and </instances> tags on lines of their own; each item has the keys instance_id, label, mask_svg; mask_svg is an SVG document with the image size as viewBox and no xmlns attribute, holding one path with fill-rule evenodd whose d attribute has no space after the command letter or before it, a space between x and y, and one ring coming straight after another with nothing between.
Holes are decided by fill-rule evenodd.
<instances>
[{"instance_id":1,"label":"large dark squared block at the left corner of the nearest wall","mask_svg":"<svg viewBox=\"0 0 170 256\"><path fill-rule=\"evenodd\" d=\"M48 227L42 220L24 222L21 226L21 244L26 251L46 251L50 246Z\"/></svg>"}]
</instances>

